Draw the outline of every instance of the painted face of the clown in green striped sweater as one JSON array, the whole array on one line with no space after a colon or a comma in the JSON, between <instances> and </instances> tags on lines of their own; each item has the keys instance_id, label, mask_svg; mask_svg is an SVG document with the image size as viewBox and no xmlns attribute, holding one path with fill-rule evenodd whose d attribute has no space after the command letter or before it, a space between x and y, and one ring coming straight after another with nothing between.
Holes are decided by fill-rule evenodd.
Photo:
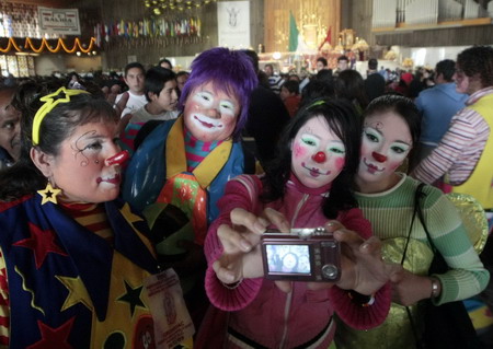
<instances>
[{"instance_id":1,"label":"painted face of the clown in green striped sweater","mask_svg":"<svg viewBox=\"0 0 493 349\"><path fill-rule=\"evenodd\" d=\"M367 117L363 130L358 181L388 181L411 148L411 132L401 116L387 112Z\"/></svg>"}]
</instances>

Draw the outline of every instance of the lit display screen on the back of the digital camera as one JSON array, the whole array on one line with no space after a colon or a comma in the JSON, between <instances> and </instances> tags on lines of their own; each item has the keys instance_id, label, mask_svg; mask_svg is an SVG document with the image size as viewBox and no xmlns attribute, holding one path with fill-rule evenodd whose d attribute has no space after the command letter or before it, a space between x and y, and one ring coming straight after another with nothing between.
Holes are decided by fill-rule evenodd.
<instances>
[{"instance_id":1,"label":"lit display screen on the back of the digital camera","mask_svg":"<svg viewBox=\"0 0 493 349\"><path fill-rule=\"evenodd\" d=\"M308 245L266 245L268 272L311 274Z\"/></svg>"}]
</instances>

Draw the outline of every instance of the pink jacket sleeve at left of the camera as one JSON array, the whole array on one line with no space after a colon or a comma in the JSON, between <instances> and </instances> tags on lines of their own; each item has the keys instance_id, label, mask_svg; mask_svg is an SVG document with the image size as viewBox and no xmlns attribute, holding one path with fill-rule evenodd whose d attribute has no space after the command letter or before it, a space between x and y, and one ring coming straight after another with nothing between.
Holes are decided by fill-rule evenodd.
<instances>
[{"instance_id":1,"label":"pink jacket sleeve at left of the camera","mask_svg":"<svg viewBox=\"0 0 493 349\"><path fill-rule=\"evenodd\" d=\"M256 176L239 176L228 182L225 195L218 201L219 217L210 225L204 245L207 258L205 289L214 306L223 311L238 311L249 305L257 295L263 278L243 279L238 287L225 286L216 277L213 264L222 255L222 245L217 236L217 229L221 224L231 224L230 212L234 208L242 208L249 212L256 212L257 197L262 183Z\"/></svg>"}]
</instances>

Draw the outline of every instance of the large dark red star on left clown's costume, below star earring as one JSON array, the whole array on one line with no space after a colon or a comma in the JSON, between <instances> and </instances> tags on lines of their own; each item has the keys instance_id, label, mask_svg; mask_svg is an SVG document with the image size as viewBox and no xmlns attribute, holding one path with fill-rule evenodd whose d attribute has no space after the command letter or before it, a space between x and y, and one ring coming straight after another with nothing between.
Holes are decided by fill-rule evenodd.
<instances>
[{"instance_id":1,"label":"large dark red star on left clown's costume, below star earring","mask_svg":"<svg viewBox=\"0 0 493 349\"><path fill-rule=\"evenodd\" d=\"M18 241L13 245L33 249L36 269L41 268L48 253L68 256L67 253L55 243L55 233L51 230L41 230L39 226L36 226L31 222L28 225L31 237Z\"/></svg>"}]
</instances>

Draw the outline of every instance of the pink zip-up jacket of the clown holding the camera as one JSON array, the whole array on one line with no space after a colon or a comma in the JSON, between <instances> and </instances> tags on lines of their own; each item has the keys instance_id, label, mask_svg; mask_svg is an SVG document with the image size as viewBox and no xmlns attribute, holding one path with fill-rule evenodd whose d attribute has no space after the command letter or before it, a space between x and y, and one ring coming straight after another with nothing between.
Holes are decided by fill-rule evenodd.
<instances>
[{"instance_id":1,"label":"pink zip-up jacket of the clown holding the camera","mask_svg":"<svg viewBox=\"0 0 493 349\"><path fill-rule=\"evenodd\" d=\"M243 347L243 342L267 348L328 348L335 330L332 321L334 311L358 329L375 327L386 318L391 301L389 284L377 292L374 305L363 307L353 303L347 291L337 287L311 291L305 282L294 282L293 291L284 293L273 281L257 278L244 279L231 290L217 279L213 270L213 263L222 254L217 229L220 224L230 224L229 213L233 208L260 213L265 207L271 207L290 219L293 228L314 228L328 221L321 210L328 195L328 189L323 190L325 193L289 181L283 201L264 205L257 199L262 191L259 177L243 175L227 184L225 196L218 202L220 216L209 228L205 242L207 295L213 305L229 312L226 347ZM363 218L359 209L342 212L337 220L365 239L371 235L370 223ZM204 325L206 328L202 330L207 331L207 324Z\"/></svg>"}]
</instances>

